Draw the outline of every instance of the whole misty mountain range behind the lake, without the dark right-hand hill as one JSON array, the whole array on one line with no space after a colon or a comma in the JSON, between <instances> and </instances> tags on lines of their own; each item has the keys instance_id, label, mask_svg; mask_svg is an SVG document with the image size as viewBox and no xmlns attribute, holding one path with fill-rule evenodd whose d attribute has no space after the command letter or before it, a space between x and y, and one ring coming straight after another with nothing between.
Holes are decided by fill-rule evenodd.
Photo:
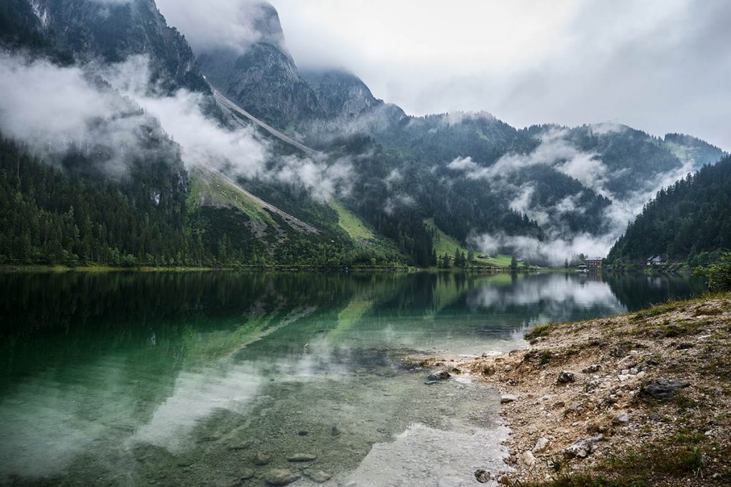
<instances>
[{"instance_id":1,"label":"whole misty mountain range behind the lake, without the dark right-hand hill","mask_svg":"<svg viewBox=\"0 0 731 487\"><path fill-rule=\"evenodd\" d=\"M67 114L50 131L73 125L71 112L84 109L75 131L58 134L43 126L45 115L20 130L0 110L8 153L28 161L26 172L12 157L3 161L4 211L12 212L16 187L26 210L0 222L12 236L0 260L88 262L86 239L107 249L92 261L115 265L129 256L137 264L428 266L446 234L480 253L562 264L573 253L608 250L660 188L724 156L694 137L616 123L518 129L487 112L408 116L355 74L300 70L276 9L254 6L246 45L194 51L153 0L1 5L7 72L76 83L88 101L48 108L50 117ZM151 79L142 91L114 79L145 66ZM5 88L27 101L15 110L32 112L55 91L43 86L39 96ZM56 167L47 174L42 162ZM39 199L39 188L54 185L64 199ZM131 220L91 210L82 212L90 221L77 217L88 204L69 196L75 191L126 208ZM47 213L56 216L44 220ZM56 224L68 237L48 253L40 236ZM127 237L89 230L99 226ZM163 245L166 236L178 243Z\"/></svg>"}]
</instances>

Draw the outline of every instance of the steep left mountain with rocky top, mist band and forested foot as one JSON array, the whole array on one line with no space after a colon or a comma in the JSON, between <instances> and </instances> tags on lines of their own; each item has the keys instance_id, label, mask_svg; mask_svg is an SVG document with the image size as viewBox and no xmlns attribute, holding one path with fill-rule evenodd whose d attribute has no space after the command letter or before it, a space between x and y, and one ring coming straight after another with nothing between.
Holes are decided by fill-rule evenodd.
<instances>
[{"instance_id":1,"label":"steep left mountain with rocky top, mist band and forested foot","mask_svg":"<svg viewBox=\"0 0 731 487\"><path fill-rule=\"evenodd\" d=\"M0 8L0 21L22 27L0 38L10 52L0 58L9 74L0 83L24 104L4 106L22 107L16 110L31 117L27 126L19 112L0 110L3 264L390 266L410 261L387 239L353 237L352 229L367 226L346 209L279 183L275 175L288 174L287 164L312 164L296 150L262 139L245 122L236 132L221 125L225 120L195 115L197 96L215 109L208 115L219 109L191 47L167 26L153 1L13 0ZM128 62L140 56L149 63ZM107 79L110 72L118 76L146 66L151 80L141 93ZM58 105L46 81L61 83L63 103ZM37 86L41 93L30 92ZM178 95L180 88L197 94ZM162 118L143 110L137 99L157 107ZM70 112L61 115L55 106ZM180 132L178 118L190 113ZM50 120L53 133L32 121L42 119ZM212 156L221 157L219 145L204 137L183 139L181 147L166 133L170 127L183 138L193 129L234 144L229 154L243 151L242 161L263 156L257 164L272 171L271 180L246 183L268 201L215 166L197 169L194 161L213 164ZM20 140L9 139L5 129ZM183 157L192 158L187 169Z\"/></svg>"}]
</instances>

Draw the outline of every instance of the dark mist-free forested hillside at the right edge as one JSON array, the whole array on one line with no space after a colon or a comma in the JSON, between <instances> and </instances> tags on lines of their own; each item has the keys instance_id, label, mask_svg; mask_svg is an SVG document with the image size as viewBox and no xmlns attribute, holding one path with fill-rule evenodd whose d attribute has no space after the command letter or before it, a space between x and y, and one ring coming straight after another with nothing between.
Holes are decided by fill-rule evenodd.
<instances>
[{"instance_id":1,"label":"dark mist-free forested hillside at the right edge","mask_svg":"<svg viewBox=\"0 0 731 487\"><path fill-rule=\"evenodd\" d=\"M731 248L731 157L662 189L618 239L607 261L644 264L661 256L708 264Z\"/></svg>"}]
</instances>

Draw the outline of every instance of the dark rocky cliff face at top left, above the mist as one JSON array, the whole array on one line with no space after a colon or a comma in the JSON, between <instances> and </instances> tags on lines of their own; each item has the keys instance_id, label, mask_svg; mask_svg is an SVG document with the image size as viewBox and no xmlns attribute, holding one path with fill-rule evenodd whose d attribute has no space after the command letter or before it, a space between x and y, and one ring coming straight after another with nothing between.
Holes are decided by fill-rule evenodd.
<instances>
[{"instance_id":1,"label":"dark rocky cliff face at top left, above the mist","mask_svg":"<svg viewBox=\"0 0 731 487\"><path fill-rule=\"evenodd\" d=\"M152 81L162 91L210 93L186 39L167 26L154 0L31 0L39 30L75 61L116 63L148 55Z\"/></svg>"}]
</instances>

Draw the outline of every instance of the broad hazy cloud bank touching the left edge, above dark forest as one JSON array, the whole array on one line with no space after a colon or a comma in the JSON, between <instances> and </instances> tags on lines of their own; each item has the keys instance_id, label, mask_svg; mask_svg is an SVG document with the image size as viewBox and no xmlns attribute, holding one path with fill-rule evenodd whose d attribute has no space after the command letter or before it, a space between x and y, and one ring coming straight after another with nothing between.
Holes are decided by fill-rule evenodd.
<instances>
[{"instance_id":1,"label":"broad hazy cloud bank touching the left edge, above dark forest","mask_svg":"<svg viewBox=\"0 0 731 487\"><path fill-rule=\"evenodd\" d=\"M69 150L93 154L97 169L113 176L123 175L135 158L157 155L145 140L164 137L158 121L83 69L7 54L0 55L0 66L0 131L6 137L50 160Z\"/></svg>"}]
</instances>

